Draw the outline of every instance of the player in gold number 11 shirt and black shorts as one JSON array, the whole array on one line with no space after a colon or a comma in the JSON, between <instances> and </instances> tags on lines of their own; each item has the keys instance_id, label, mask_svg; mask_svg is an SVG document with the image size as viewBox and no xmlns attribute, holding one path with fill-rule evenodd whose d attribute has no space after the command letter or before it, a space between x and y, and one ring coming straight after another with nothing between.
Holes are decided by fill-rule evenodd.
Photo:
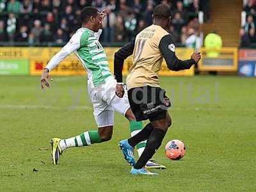
<instances>
[{"instance_id":1,"label":"player in gold number 11 shirt and black shorts","mask_svg":"<svg viewBox=\"0 0 256 192\"><path fill-rule=\"evenodd\" d=\"M153 24L143 29L136 39L124 45L115 53L116 95L123 97L122 67L127 56L132 54L133 64L127 76L129 103L137 121L149 120L142 131L119 145L126 161L132 165L131 174L152 175L144 166L155 154L172 124L168 113L170 100L160 88L158 73L163 58L170 70L184 70L195 65L201 58L200 52L194 52L189 60L179 60L175 55L172 36L167 32L170 25L171 10L160 4L154 9ZM147 140L143 154L135 163L133 148Z\"/></svg>"}]
</instances>

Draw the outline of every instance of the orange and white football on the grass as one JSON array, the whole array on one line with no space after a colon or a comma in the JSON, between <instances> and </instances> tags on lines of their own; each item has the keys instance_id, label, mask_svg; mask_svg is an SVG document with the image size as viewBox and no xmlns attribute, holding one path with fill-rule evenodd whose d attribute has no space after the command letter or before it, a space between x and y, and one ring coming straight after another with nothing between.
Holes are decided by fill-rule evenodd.
<instances>
[{"instance_id":1,"label":"orange and white football on the grass","mask_svg":"<svg viewBox=\"0 0 256 192\"><path fill-rule=\"evenodd\" d=\"M164 148L166 157L172 160L179 160L186 154L186 147L180 140L169 141Z\"/></svg>"}]
</instances>

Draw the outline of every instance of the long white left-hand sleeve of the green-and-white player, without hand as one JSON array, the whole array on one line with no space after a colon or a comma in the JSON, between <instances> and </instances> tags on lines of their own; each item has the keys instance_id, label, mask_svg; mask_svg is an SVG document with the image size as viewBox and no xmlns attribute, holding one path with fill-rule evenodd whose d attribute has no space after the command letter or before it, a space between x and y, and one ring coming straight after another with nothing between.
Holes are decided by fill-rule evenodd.
<instances>
[{"instance_id":1,"label":"long white left-hand sleeve of the green-and-white player, without hand","mask_svg":"<svg viewBox=\"0 0 256 192\"><path fill-rule=\"evenodd\" d=\"M57 52L49 61L47 68L49 72L57 67L61 61L63 61L68 55L72 52L76 51L80 47L80 38L75 34L72 36L70 41L61 49L61 51Z\"/></svg>"}]
</instances>

